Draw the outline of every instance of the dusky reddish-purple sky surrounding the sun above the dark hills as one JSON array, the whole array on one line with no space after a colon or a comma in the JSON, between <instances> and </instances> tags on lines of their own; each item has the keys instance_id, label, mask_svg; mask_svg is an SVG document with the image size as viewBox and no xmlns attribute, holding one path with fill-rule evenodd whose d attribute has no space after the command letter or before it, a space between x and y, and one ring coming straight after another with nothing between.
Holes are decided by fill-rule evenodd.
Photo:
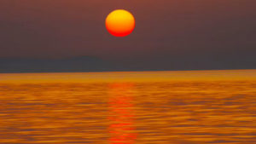
<instances>
[{"instance_id":1,"label":"dusky reddish-purple sky surrounding the sun above the dark hills","mask_svg":"<svg viewBox=\"0 0 256 144\"><path fill-rule=\"evenodd\" d=\"M256 68L255 0L1 0L0 58L95 56L148 69ZM128 37L105 18L134 14Z\"/></svg>"}]
</instances>

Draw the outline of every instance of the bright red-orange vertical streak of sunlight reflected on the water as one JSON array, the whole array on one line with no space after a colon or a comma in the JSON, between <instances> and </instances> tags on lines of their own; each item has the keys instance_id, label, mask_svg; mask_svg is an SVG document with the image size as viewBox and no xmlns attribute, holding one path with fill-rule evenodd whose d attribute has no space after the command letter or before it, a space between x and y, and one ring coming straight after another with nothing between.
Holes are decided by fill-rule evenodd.
<instances>
[{"instance_id":1,"label":"bright red-orange vertical streak of sunlight reflected on the water","mask_svg":"<svg viewBox=\"0 0 256 144\"><path fill-rule=\"evenodd\" d=\"M132 90L133 84L110 84L109 88L109 132L111 144L133 144L137 134L133 115Z\"/></svg>"}]
</instances>

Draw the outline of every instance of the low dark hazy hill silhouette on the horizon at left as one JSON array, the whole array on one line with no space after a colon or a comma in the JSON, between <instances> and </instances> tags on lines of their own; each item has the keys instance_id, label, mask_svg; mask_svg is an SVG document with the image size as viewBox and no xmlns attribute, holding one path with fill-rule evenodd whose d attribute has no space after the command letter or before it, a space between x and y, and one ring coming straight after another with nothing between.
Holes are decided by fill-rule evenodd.
<instances>
[{"instance_id":1,"label":"low dark hazy hill silhouette on the horizon at left","mask_svg":"<svg viewBox=\"0 0 256 144\"><path fill-rule=\"evenodd\" d=\"M95 72L111 66L102 59L82 56L68 59L0 59L0 72Z\"/></svg>"}]
</instances>

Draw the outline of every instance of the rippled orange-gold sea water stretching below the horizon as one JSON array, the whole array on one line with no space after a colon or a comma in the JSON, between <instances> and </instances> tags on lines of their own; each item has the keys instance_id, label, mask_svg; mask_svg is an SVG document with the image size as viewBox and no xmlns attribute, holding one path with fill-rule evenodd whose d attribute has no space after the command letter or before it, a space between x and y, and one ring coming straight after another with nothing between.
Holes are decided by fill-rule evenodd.
<instances>
[{"instance_id":1,"label":"rippled orange-gold sea water stretching below the horizon","mask_svg":"<svg viewBox=\"0 0 256 144\"><path fill-rule=\"evenodd\" d=\"M256 70L0 74L1 144L255 144Z\"/></svg>"}]
</instances>

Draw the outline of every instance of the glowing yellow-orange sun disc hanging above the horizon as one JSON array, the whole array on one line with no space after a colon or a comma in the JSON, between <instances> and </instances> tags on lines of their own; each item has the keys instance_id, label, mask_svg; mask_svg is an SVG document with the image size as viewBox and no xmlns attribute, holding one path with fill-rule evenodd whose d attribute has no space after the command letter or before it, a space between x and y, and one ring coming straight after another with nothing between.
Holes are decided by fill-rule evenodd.
<instances>
[{"instance_id":1,"label":"glowing yellow-orange sun disc hanging above the horizon","mask_svg":"<svg viewBox=\"0 0 256 144\"><path fill-rule=\"evenodd\" d=\"M117 9L108 14L106 27L109 33L115 37L125 37L131 34L135 28L134 16L125 9Z\"/></svg>"}]
</instances>

